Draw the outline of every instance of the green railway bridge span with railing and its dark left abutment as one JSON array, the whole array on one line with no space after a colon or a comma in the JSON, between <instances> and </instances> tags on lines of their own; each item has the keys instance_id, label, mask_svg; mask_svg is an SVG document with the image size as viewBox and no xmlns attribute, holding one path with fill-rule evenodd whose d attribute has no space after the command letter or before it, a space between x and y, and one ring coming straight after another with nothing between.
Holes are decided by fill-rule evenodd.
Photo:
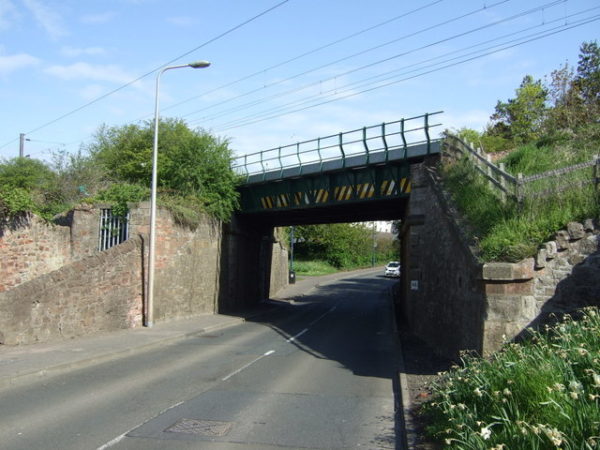
<instances>
[{"instance_id":1,"label":"green railway bridge span with railing and its dark left abutment","mask_svg":"<svg viewBox=\"0 0 600 450\"><path fill-rule=\"evenodd\" d=\"M437 158L439 127L425 114L245 155L233 161L243 178L241 210L228 225L219 311L269 297L274 227L401 220L412 192L411 165ZM403 255L404 256L404 255ZM231 300L236 298L236 300ZM234 303L232 303L234 302Z\"/></svg>"}]
</instances>

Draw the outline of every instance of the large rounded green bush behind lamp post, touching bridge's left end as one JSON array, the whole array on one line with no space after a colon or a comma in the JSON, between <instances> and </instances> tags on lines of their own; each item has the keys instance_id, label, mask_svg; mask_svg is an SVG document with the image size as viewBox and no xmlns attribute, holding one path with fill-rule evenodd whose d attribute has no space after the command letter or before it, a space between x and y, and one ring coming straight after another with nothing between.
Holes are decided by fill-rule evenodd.
<instances>
[{"instance_id":1,"label":"large rounded green bush behind lamp post, touching bridge's left end","mask_svg":"<svg viewBox=\"0 0 600 450\"><path fill-rule=\"evenodd\" d=\"M192 130L180 119L161 120L159 136L159 190L198 200L208 213L229 220L238 205L238 193L227 141ZM153 137L153 121L141 126L102 126L88 148L115 181L148 186Z\"/></svg>"}]
</instances>

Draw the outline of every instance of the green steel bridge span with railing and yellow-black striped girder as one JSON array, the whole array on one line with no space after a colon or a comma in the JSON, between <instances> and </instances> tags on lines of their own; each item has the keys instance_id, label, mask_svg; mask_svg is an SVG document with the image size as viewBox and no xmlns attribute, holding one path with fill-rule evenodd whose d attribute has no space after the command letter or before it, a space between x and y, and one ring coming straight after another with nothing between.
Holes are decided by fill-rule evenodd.
<instances>
[{"instance_id":1,"label":"green steel bridge span with railing and yellow-black striped girder","mask_svg":"<svg viewBox=\"0 0 600 450\"><path fill-rule=\"evenodd\" d=\"M438 153L425 114L236 158L241 212L299 210L405 197L409 165ZM413 125L408 125L412 123ZM408 125L408 126L407 126ZM415 134L421 136L415 139Z\"/></svg>"}]
</instances>

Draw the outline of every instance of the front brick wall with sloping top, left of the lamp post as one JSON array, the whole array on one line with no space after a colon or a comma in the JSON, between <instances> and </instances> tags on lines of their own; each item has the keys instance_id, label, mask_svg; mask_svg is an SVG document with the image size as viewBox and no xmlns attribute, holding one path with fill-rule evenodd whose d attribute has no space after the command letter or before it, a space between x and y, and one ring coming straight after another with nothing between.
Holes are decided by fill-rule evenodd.
<instances>
[{"instance_id":1,"label":"front brick wall with sloping top, left of the lamp post","mask_svg":"<svg viewBox=\"0 0 600 450\"><path fill-rule=\"evenodd\" d=\"M0 293L0 343L30 344L141 325L140 238Z\"/></svg>"}]
</instances>

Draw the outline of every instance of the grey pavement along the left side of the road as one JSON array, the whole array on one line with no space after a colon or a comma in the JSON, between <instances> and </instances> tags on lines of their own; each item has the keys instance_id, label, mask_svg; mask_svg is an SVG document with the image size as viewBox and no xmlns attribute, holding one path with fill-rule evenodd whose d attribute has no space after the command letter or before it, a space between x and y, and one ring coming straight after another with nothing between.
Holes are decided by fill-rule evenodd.
<instances>
[{"instance_id":1,"label":"grey pavement along the left side of the road","mask_svg":"<svg viewBox=\"0 0 600 450\"><path fill-rule=\"evenodd\" d=\"M323 277L298 279L273 300L293 300L323 284L368 274L376 269L336 273ZM264 312L258 308L246 315L206 314L189 319L155 323L151 328L132 328L73 339L20 346L0 345L0 389L43 380L70 370L90 367L106 361L155 349L192 336L238 325Z\"/></svg>"}]
</instances>

